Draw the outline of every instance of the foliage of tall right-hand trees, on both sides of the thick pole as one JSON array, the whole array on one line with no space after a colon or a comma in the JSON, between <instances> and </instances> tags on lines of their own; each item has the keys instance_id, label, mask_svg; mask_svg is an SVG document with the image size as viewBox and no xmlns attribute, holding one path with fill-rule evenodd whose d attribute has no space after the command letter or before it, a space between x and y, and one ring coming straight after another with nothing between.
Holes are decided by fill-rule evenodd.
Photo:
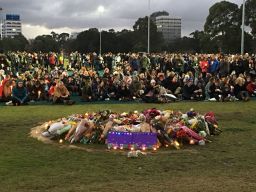
<instances>
[{"instance_id":1,"label":"foliage of tall right-hand trees, on both sides of the thick pole","mask_svg":"<svg viewBox=\"0 0 256 192\"><path fill-rule=\"evenodd\" d=\"M202 50L224 53L240 52L242 8L235 3L221 1L209 9L204 25L204 35L201 36L201 43L203 39L206 40L206 43L202 44ZM254 35L256 34L256 0L247 1L246 11L246 24L251 27L251 34ZM246 52L253 49L251 34L248 31L245 32ZM210 44L211 47L204 47L203 45L206 44Z\"/></svg>"}]
</instances>

